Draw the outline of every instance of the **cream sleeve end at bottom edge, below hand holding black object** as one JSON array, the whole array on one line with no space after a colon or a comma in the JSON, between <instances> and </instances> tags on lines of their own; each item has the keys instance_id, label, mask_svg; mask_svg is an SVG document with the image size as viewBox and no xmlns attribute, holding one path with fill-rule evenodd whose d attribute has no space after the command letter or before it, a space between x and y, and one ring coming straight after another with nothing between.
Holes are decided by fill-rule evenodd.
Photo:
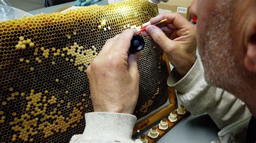
<instances>
[{"instance_id":1,"label":"cream sleeve end at bottom edge, below hand holding black object","mask_svg":"<svg viewBox=\"0 0 256 143\"><path fill-rule=\"evenodd\" d=\"M124 113L91 112L85 114L83 134L73 135L70 142L141 142L132 140L137 118Z\"/></svg>"}]
</instances>

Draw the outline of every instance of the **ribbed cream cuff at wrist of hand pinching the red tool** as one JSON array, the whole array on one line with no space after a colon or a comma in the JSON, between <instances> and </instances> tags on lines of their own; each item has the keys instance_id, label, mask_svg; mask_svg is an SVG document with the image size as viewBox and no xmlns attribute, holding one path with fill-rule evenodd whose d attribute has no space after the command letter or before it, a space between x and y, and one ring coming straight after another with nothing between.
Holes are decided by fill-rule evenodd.
<instances>
[{"instance_id":1,"label":"ribbed cream cuff at wrist of hand pinching the red tool","mask_svg":"<svg viewBox=\"0 0 256 143\"><path fill-rule=\"evenodd\" d=\"M196 83L201 83L204 81L204 69L201 65L200 60L197 58L193 67L188 71L188 73L181 78L178 71L174 68L171 75L168 77L167 84L170 87L174 87L181 94L188 92L193 89Z\"/></svg>"}]
</instances>

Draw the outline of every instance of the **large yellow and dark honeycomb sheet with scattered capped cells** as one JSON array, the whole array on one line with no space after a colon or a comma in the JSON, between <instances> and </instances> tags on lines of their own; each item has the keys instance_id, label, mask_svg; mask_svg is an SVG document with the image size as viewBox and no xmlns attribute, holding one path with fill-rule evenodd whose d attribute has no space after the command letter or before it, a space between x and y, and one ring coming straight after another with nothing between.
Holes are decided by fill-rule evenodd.
<instances>
[{"instance_id":1,"label":"large yellow and dark honeycomb sheet with scattered capped cells","mask_svg":"<svg viewBox=\"0 0 256 143\"><path fill-rule=\"evenodd\" d=\"M68 142L83 133L93 111L87 66L107 39L157 15L156 5L130 0L0 23L1 141ZM138 118L167 101L163 51L143 38Z\"/></svg>"}]
</instances>

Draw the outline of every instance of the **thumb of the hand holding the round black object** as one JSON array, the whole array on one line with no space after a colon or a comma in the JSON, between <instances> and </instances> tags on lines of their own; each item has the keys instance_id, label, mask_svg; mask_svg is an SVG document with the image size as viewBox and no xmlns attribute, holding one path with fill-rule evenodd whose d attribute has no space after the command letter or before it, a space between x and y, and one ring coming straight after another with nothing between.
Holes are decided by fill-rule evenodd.
<instances>
[{"instance_id":1,"label":"thumb of the hand holding the round black object","mask_svg":"<svg viewBox=\"0 0 256 143\"><path fill-rule=\"evenodd\" d=\"M140 56L142 56L142 52L129 54L128 56L128 65L129 65L128 71L133 79L136 79L139 77L137 60L139 59Z\"/></svg>"}]
</instances>

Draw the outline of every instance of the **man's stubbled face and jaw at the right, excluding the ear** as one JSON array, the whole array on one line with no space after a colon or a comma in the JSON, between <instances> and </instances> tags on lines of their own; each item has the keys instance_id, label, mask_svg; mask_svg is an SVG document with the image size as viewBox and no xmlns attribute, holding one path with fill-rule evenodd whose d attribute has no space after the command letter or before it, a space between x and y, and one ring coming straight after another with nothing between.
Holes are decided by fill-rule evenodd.
<instances>
[{"instance_id":1,"label":"man's stubbled face and jaw at the right, excluding the ear","mask_svg":"<svg viewBox=\"0 0 256 143\"><path fill-rule=\"evenodd\" d=\"M208 82L231 92L248 106L256 102L253 95L242 96L246 84L256 79L255 73L244 66L247 25L255 19L252 4L255 0L196 0L191 12L198 17L198 48ZM197 6L196 12L193 6Z\"/></svg>"}]
</instances>

